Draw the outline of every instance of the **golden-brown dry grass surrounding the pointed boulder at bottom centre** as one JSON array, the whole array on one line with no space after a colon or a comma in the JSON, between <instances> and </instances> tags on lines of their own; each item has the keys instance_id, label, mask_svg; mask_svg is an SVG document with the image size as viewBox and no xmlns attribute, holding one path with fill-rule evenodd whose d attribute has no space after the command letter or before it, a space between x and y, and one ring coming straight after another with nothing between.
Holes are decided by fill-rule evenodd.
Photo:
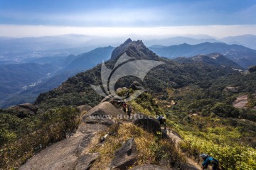
<instances>
[{"instance_id":1,"label":"golden-brown dry grass surrounding the pointed boulder at bottom centre","mask_svg":"<svg viewBox=\"0 0 256 170\"><path fill-rule=\"evenodd\" d=\"M168 164L181 164L180 154L174 144L169 140L163 140L161 135L154 136L132 123L122 123L119 127L110 128L113 135L107 137L104 145L95 147L91 152L100 152L100 159L92 165L92 169L107 169L114 158L114 152L121 147L130 137L134 137L137 145L137 162L135 165L159 164L159 159L166 159ZM101 134L102 136L105 134Z\"/></svg>"}]
</instances>

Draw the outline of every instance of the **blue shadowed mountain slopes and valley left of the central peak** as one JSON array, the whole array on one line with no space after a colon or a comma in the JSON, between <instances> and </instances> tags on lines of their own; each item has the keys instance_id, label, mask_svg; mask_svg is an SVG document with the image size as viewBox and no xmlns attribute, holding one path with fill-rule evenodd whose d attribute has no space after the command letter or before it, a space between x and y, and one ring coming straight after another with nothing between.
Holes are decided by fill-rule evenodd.
<instances>
[{"instance_id":1,"label":"blue shadowed mountain slopes and valley left of the central peak","mask_svg":"<svg viewBox=\"0 0 256 170\"><path fill-rule=\"evenodd\" d=\"M99 47L77 56L43 57L26 60L36 62L33 64L0 65L0 108L24 102L33 103L38 94L54 89L69 77L95 67L102 60L110 60L112 50L114 47L111 46ZM28 67L31 65L33 67ZM49 70L49 67L54 69Z\"/></svg>"}]
</instances>

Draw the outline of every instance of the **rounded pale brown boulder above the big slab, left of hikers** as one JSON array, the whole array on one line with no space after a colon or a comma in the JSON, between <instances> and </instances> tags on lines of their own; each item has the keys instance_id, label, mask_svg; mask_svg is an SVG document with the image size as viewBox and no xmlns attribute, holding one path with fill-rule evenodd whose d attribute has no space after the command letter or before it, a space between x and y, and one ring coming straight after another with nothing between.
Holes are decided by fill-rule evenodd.
<instances>
[{"instance_id":1,"label":"rounded pale brown boulder above the big slab, left of hikers","mask_svg":"<svg viewBox=\"0 0 256 170\"><path fill-rule=\"evenodd\" d=\"M92 108L87 114L82 116L82 122L90 124L113 125L114 119L121 118L124 113L115 108L110 102L103 102Z\"/></svg>"}]
</instances>

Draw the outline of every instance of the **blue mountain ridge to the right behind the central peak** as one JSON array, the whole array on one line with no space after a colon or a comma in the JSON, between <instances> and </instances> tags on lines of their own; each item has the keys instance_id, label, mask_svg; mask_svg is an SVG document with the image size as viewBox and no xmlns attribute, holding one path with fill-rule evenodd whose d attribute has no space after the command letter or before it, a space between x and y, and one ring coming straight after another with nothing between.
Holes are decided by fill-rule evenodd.
<instances>
[{"instance_id":1,"label":"blue mountain ridge to the right behind the central peak","mask_svg":"<svg viewBox=\"0 0 256 170\"><path fill-rule=\"evenodd\" d=\"M218 52L245 69L256 64L256 50L243 47L242 45L227 45L220 42L204 42L198 45L188 45L184 43L168 47L163 45L153 45L149 47L149 49L156 52L156 55L170 59L176 57L193 57L195 55L206 55Z\"/></svg>"}]
</instances>

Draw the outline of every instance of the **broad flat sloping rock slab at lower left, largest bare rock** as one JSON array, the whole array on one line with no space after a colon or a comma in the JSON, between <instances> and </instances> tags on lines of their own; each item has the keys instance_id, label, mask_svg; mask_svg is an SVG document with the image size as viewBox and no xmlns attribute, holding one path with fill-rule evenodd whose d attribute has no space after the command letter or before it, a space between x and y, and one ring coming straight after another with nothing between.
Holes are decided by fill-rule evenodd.
<instances>
[{"instance_id":1,"label":"broad flat sloping rock slab at lower left, largest bare rock","mask_svg":"<svg viewBox=\"0 0 256 170\"><path fill-rule=\"evenodd\" d=\"M88 154L90 145L97 139L95 134L70 137L43 149L23 164L20 170L81 169L90 166L97 154ZM85 162L82 162L84 160Z\"/></svg>"}]
</instances>

